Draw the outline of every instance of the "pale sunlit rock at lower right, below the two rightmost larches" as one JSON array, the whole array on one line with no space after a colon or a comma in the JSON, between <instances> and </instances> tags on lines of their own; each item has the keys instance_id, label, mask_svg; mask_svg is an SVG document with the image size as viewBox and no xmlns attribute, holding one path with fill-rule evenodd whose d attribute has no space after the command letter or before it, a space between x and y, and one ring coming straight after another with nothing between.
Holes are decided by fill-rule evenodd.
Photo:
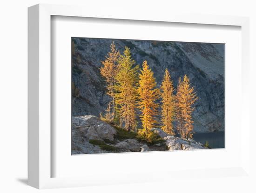
<instances>
[{"instance_id":1,"label":"pale sunlit rock at lower right, below the two rightmost larches","mask_svg":"<svg viewBox=\"0 0 256 193\"><path fill-rule=\"evenodd\" d=\"M205 149L202 143L195 142L194 140L185 141L171 135L165 137L164 140L166 140L166 146L169 150Z\"/></svg>"}]
</instances>

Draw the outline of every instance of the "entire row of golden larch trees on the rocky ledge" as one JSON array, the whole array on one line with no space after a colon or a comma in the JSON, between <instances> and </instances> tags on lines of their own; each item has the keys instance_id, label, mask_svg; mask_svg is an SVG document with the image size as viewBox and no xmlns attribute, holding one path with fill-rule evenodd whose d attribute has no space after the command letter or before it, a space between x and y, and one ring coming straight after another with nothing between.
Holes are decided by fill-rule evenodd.
<instances>
[{"instance_id":1,"label":"entire row of golden larch trees on the rocky ledge","mask_svg":"<svg viewBox=\"0 0 256 193\"><path fill-rule=\"evenodd\" d=\"M119 122L120 127L136 132L136 109L141 111L142 129L138 131L138 137L148 142L154 141L154 133L151 131L157 124L158 99L161 97L161 121L162 130L170 135L175 135L173 121L176 121L176 129L182 139L193 137L192 112L194 103L198 99L194 87L189 83L187 75L183 80L179 78L176 96L171 75L166 69L161 92L156 88L153 71L147 61L142 64L139 74L139 66L131 56L130 49L125 47L123 54L116 50L114 42L110 45L110 52L100 68L102 77L107 84L107 94L112 97L108 108L101 119L106 122ZM76 95L76 90L73 89Z\"/></svg>"}]
</instances>

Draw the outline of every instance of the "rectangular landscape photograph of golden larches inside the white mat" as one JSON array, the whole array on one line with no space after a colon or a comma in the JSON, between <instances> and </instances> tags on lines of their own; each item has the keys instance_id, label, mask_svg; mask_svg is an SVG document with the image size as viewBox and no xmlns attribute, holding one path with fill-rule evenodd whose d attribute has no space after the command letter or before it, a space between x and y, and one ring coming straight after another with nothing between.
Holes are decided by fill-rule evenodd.
<instances>
[{"instance_id":1,"label":"rectangular landscape photograph of golden larches inside the white mat","mask_svg":"<svg viewBox=\"0 0 256 193\"><path fill-rule=\"evenodd\" d=\"M225 148L225 44L71 38L72 152Z\"/></svg>"}]
</instances>

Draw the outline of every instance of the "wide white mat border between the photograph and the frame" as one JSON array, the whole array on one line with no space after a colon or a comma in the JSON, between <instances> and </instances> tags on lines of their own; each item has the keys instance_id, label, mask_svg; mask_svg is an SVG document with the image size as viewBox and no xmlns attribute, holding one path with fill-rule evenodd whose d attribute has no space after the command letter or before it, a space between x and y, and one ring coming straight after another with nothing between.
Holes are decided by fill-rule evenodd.
<instances>
[{"instance_id":1,"label":"wide white mat border between the photograph and the frame","mask_svg":"<svg viewBox=\"0 0 256 193\"><path fill-rule=\"evenodd\" d=\"M202 168L237 167L240 164L240 115L234 104L241 101L241 27L204 26L201 24L131 21L124 19L95 19L52 17L51 46L51 132L52 177L77 177L93 174L115 175L148 172L191 170ZM102 29L109 29L104 30ZM146 32L146 33L145 33ZM146 39L155 41L210 42L225 44L225 149L207 151L158 151L124 154L84 154L70 156L71 139L71 37ZM150 64L149 64L150 65ZM240 105L236 105L240 109ZM239 110L240 112L240 110ZM236 119L236 122L233 120ZM232 136L232 137L227 137ZM102 162L104 160L104 162ZM189 164L187 164L189 160ZM204 161L202 161L204 160ZM152 167L152 163L158 163ZM141 167L141 164L143 167ZM83 167L95 166L95 167ZM67 167L72 166L72 167ZM125 166L125 167L124 167ZM121 168L113 171L113 168Z\"/></svg>"}]
</instances>

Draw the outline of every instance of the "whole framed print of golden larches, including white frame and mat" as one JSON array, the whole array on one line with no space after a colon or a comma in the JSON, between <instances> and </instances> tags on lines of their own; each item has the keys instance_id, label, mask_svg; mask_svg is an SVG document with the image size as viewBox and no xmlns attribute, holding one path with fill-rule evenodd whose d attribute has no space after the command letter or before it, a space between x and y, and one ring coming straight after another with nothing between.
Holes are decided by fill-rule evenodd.
<instances>
[{"instance_id":1,"label":"whole framed print of golden larches, including white frame and mat","mask_svg":"<svg viewBox=\"0 0 256 193\"><path fill-rule=\"evenodd\" d=\"M28 9L28 184L250 178L249 19L84 10Z\"/></svg>"}]
</instances>

